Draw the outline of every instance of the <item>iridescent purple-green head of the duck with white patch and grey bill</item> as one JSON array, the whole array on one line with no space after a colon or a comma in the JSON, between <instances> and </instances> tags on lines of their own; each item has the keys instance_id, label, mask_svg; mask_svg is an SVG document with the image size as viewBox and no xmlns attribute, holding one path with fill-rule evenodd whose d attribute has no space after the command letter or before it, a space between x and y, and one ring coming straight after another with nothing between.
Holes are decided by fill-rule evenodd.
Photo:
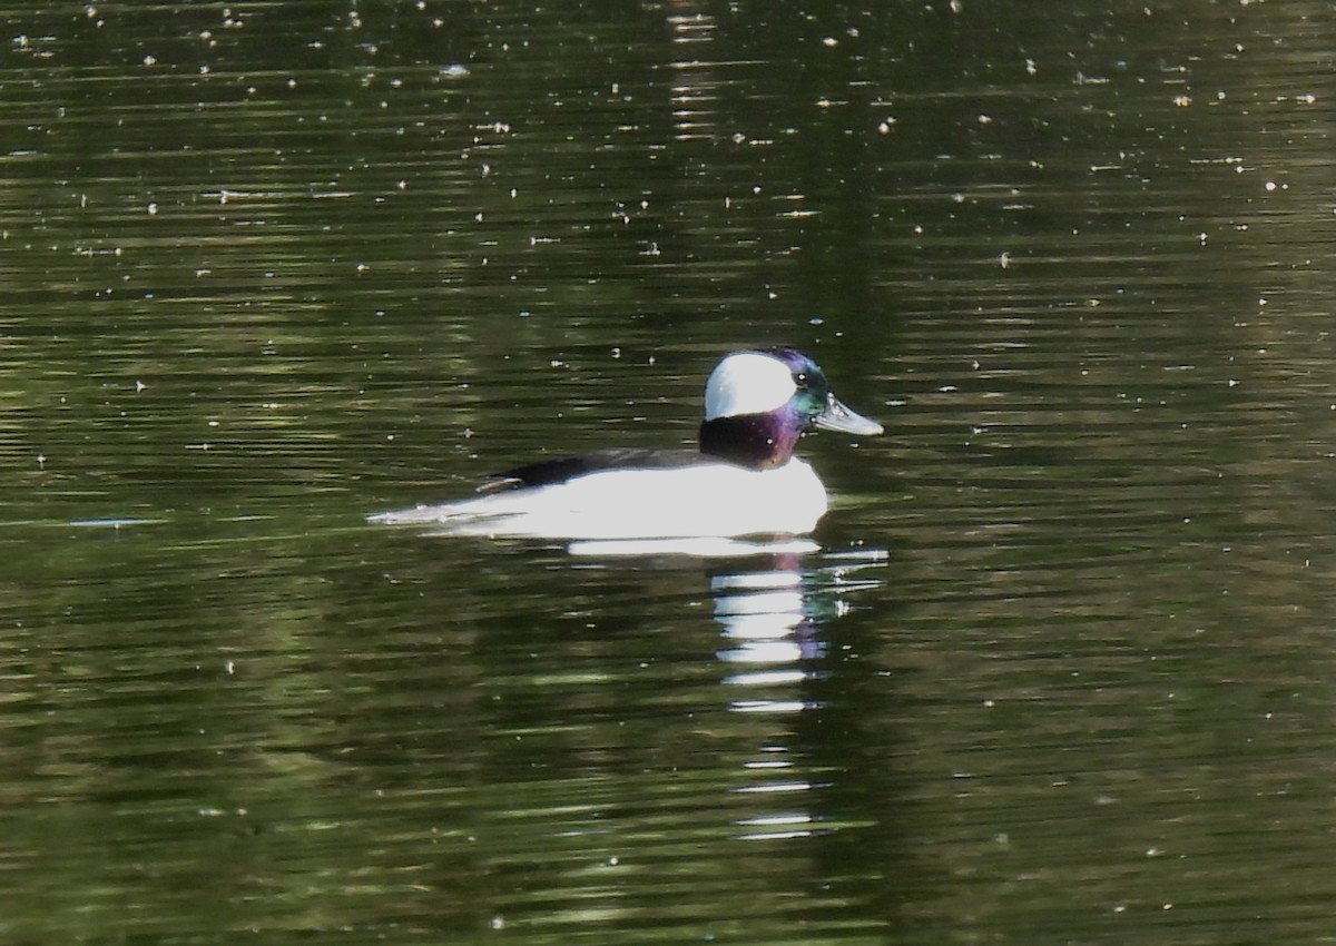
<instances>
[{"instance_id":1,"label":"iridescent purple-green head of the duck with white patch and grey bill","mask_svg":"<svg viewBox=\"0 0 1336 946\"><path fill-rule=\"evenodd\" d=\"M788 462L804 430L882 433L831 394L822 369L802 351L735 351L705 385L700 452L743 466L770 469Z\"/></svg>"}]
</instances>

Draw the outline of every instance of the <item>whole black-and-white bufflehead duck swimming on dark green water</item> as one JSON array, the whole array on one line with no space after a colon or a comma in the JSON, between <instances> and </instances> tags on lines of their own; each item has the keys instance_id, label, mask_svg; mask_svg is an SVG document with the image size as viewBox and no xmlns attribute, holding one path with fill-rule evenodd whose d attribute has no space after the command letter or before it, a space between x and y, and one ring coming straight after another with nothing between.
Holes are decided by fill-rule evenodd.
<instances>
[{"instance_id":1,"label":"whole black-and-white bufflehead duck swimming on dark green water","mask_svg":"<svg viewBox=\"0 0 1336 946\"><path fill-rule=\"evenodd\" d=\"M378 513L371 522L434 525L458 536L684 538L804 534L826 488L794 456L811 428L879 434L792 349L735 351L705 385L700 450L599 450L501 473L458 502Z\"/></svg>"}]
</instances>

